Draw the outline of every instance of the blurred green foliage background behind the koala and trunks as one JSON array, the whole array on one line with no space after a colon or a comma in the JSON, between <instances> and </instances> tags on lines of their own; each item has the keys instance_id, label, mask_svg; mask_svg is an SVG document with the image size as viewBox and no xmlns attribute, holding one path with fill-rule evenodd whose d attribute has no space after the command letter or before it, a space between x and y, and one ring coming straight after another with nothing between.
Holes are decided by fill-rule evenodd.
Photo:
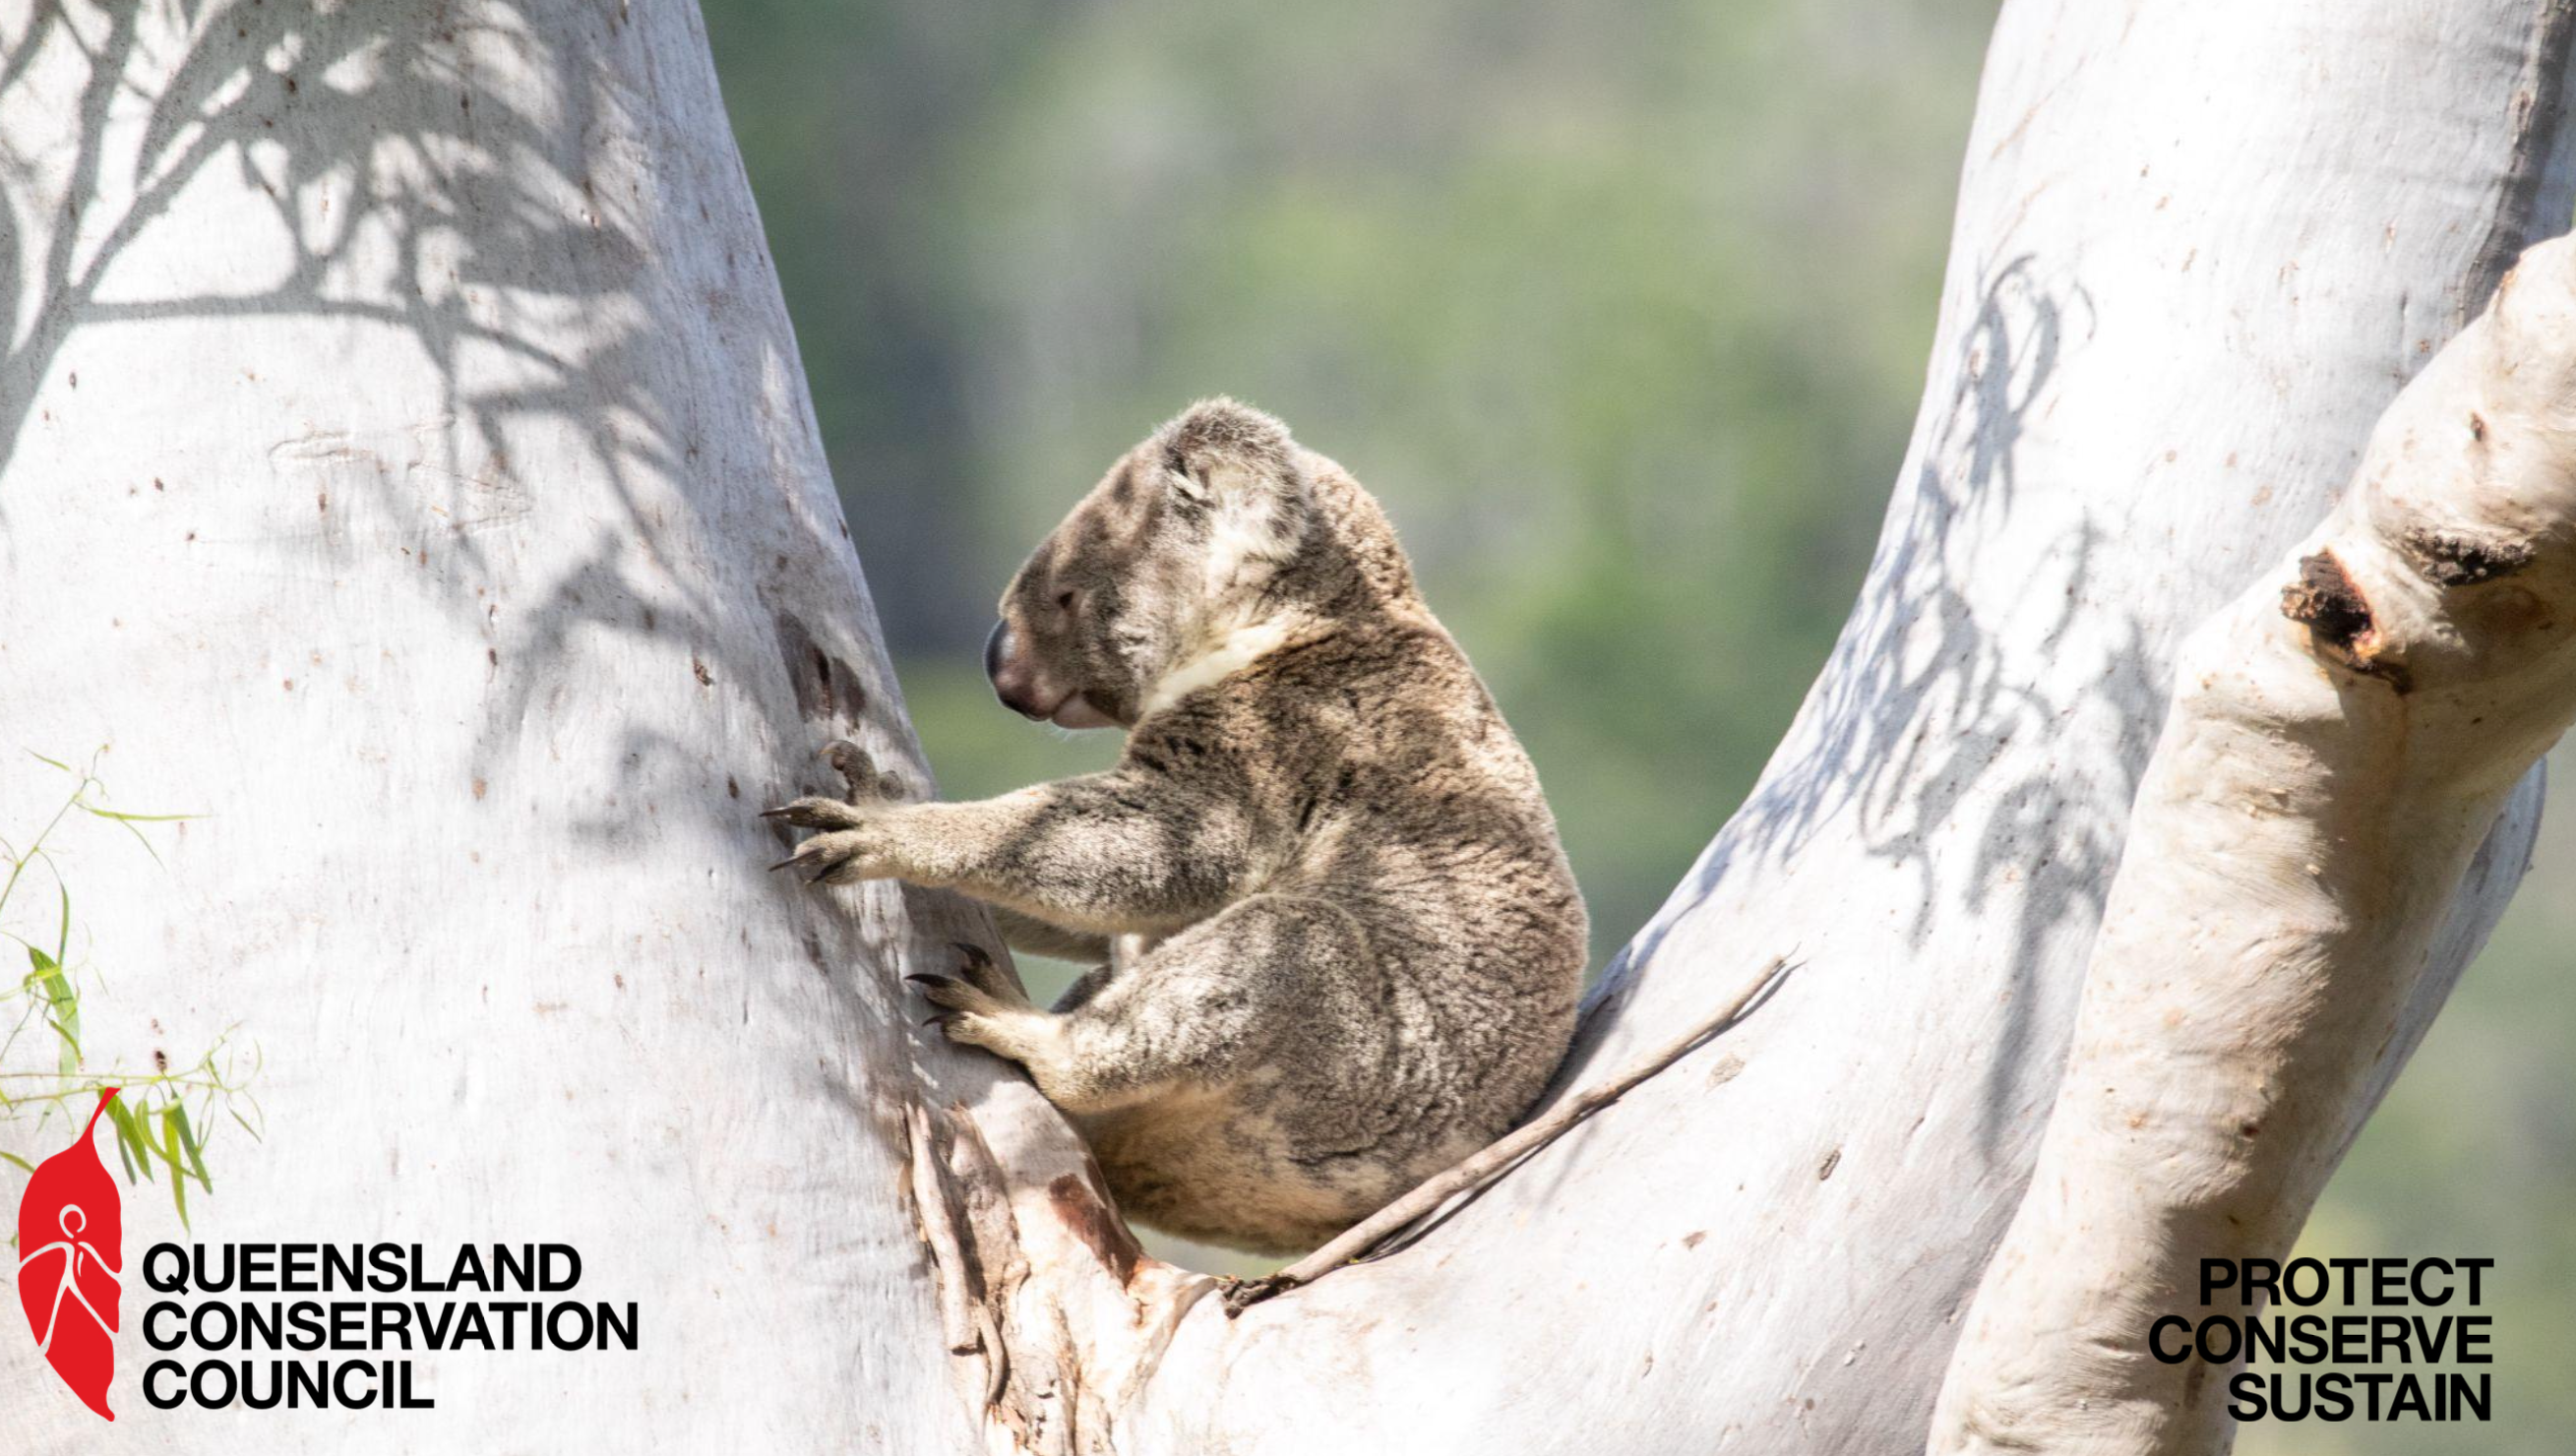
<instances>
[{"instance_id":1,"label":"blurred green foliage background behind the koala and trunks","mask_svg":"<svg viewBox=\"0 0 2576 1456\"><path fill-rule=\"evenodd\" d=\"M1198 394L1388 508L1595 915L1643 923L1850 608L1922 387L1991 0L706 0L904 693L951 796L1105 763L994 706L1005 577ZM2566 1451L2576 838L2313 1247L2501 1260L2491 1428Z\"/></svg>"}]
</instances>

